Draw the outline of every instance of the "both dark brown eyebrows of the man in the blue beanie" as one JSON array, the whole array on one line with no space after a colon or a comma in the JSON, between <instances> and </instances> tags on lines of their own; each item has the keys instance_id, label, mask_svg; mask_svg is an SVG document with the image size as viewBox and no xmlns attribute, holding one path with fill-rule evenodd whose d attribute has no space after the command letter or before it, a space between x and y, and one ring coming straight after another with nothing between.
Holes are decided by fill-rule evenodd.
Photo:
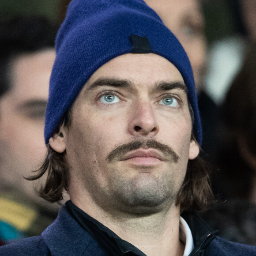
<instances>
[{"instance_id":1,"label":"both dark brown eyebrows of the man in the blue beanie","mask_svg":"<svg viewBox=\"0 0 256 256\"><path fill-rule=\"evenodd\" d=\"M116 79L116 78L99 78L93 83L89 84L87 89L85 90L85 94L90 90L95 90L98 87L102 86L112 86L112 87L119 87L119 88L132 88L134 84L129 79ZM152 88L152 92L157 91L167 91L173 89L181 89L187 94L187 87L182 81L160 81L154 84L154 88Z\"/></svg>"}]
</instances>

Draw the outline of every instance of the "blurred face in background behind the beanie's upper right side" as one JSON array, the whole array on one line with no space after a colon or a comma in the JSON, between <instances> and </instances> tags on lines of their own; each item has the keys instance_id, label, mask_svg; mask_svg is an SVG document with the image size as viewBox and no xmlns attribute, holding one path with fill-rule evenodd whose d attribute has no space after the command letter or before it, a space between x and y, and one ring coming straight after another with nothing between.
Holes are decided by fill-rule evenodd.
<instances>
[{"instance_id":1,"label":"blurred face in background behind the beanie's upper right side","mask_svg":"<svg viewBox=\"0 0 256 256\"><path fill-rule=\"evenodd\" d=\"M206 54L204 19L198 0L145 0L181 42L199 90Z\"/></svg>"}]
</instances>

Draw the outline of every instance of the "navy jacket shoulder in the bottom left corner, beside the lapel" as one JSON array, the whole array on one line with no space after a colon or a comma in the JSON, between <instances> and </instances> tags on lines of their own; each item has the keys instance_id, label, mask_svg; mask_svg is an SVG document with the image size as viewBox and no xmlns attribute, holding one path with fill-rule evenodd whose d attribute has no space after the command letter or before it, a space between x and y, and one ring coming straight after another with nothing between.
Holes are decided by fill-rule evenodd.
<instances>
[{"instance_id":1,"label":"navy jacket shoulder in the bottom left corner, beside the lapel","mask_svg":"<svg viewBox=\"0 0 256 256\"><path fill-rule=\"evenodd\" d=\"M4 256L50 256L51 253L43 237L28 237L8 245L0 246L0 255Z\"/></svg>"}]
</instances>

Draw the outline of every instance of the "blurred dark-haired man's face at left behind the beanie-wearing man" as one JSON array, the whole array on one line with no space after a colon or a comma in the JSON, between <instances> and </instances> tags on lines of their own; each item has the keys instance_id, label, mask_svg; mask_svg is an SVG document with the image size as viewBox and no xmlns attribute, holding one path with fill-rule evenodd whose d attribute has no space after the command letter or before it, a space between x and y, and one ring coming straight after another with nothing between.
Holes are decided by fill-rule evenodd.
<instances>
[{"instance_id":1,"label":"blurred dark-haired man's face at left behind the beanie-wearing man","mask_svg":"<svg viewBox=\"0 0 256 256\"><path fill-rule=\"evenodd\" d=\"M1 182L34 195L23 179L45 157L44 119L54 50L21 55L11 63L11 90L0 98Z\"/></svg>"}]
</instances>

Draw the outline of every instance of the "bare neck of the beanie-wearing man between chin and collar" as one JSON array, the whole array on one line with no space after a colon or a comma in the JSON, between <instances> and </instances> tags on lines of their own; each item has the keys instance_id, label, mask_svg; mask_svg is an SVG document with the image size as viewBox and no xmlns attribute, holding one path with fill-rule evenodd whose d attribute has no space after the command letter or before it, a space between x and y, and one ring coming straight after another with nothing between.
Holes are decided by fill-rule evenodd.
<instances>
[{"instance_id":1,"label":"bare neck of the beanie-wearing man between chin and collar","mask_svg":"<svg viewBox=\"0 0 256 256\"><path fill-rule=\"evenodd\" d=\"M92 202L71 199L77 207L147 256L182 256L184 253L185 245L179 240L180 208L174 204L168 209L142 215L105 211Z\"/></svg>"}]
</instances>

